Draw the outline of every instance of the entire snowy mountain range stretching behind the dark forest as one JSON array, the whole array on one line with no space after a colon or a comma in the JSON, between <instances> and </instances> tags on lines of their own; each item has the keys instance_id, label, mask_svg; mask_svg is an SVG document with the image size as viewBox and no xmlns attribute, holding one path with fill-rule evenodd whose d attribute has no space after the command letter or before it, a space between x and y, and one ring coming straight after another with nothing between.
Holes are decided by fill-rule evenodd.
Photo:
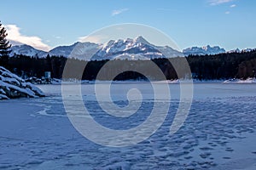
<instances>
[{"instance_id":1,"label":"entire snowy mountain range stretching behind the dark forest","mask_svg":"<svg viewBox=\"0 0 256 170\"><path fill-rule=\"evenodd\" d=\"M105 45L93 42L75 42L69 46L58 46L45 52L33 48L26 44L14 45L11 47L10 56L15 54L24 54L27 56L38 56L45 58L49 56L64 56L73 57L84 60L102 60L102 59L156 59L156 58L172 58L177 56L188 55L205 55L205 54L221 54L241 52L240 49L226 51L224 48L218 46L211 47L192 47L185 48L183 52L179 52L169 46L155 46L148 42L143 37L136 37L135 39L119 39L117 41L111 40ZM247 48L242 51L251 51Z\"/></svg>"}]
</instances>

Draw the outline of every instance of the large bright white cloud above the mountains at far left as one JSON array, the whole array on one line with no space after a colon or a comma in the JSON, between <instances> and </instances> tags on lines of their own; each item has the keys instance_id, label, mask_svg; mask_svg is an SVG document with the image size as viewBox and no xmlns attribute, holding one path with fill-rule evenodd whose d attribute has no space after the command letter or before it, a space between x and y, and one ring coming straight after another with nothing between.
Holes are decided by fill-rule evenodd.
<instances>
[{"instance_id":1,"label":"large bright white cloud above the mountains at far left","mask_svg":"<svg viewBox=\"0 0 256 170\"><path fill-rule=\"evenodd\" d=\"M45 44L40 37L29 37L21 35L20 28L16 25L5 25L5 28L8 32L7 39L10 42L20 42L27 45L30 45L34 48L38 48L44 51L49 51L49 45Z\"/></svg>"}]
</instances>

